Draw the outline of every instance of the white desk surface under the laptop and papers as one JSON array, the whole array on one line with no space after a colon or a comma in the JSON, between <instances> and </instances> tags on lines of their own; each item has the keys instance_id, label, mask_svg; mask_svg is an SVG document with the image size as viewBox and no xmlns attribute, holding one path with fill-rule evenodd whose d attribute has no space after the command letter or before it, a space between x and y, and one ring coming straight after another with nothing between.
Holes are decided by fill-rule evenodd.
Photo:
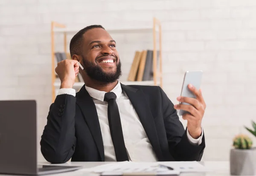
<instances>
[{"instance_id":1,"label":"white desk surface under the laptop and papers","mask_svg":"<svg viewBox=\"0 0 256 176\"><path fill-rule=\"evenodd\" d=\"M101 164L107 164L109 162L67 162L65 164L56 165L79 165L84 168L93 167ZM207 173L181 173L180 176L230 176L229 173L229 162L200 162L206 166L209 170ZM49 164L47 162L40 162L38 164ZM10 175L0 175L0 176L10 176ZM47 175L46 175L47 176ZM76 170L67 173L58 173L48 176L98 176L98 174L85 173L83 170Z\"/></svg>"}]
</instances>

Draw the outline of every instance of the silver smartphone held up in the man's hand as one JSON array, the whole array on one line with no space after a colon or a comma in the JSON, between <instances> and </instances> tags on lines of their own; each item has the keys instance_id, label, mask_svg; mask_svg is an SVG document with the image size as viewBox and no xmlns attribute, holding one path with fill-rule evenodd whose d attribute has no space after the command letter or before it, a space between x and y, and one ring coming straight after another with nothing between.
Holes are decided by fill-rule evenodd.
<instances>
[{"instance_id":1,"label":"silver smartphone held up in the man's hand","mask_svg":"<svg viewBox=\"0 0 256 176\"><path fill-rule=\"evenodd\" d=\"M203 71L186 71L183 79L183 84L181 88L180 96L196 98L195 95L189 90L188 85L192 84L196 89L200 89L201 79L202 79ZM188 104L180 102L180 104ZM188 113L185 110L178 110L178 115L184 115Z\"/></svg>"}]
</instances>

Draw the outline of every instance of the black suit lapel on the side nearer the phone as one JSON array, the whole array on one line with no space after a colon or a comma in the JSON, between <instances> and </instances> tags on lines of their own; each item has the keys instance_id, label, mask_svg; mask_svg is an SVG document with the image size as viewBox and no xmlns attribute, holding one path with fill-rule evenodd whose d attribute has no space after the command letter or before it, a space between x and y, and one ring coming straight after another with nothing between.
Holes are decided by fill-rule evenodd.
<instances>
[{"instance_id":1,"label":"black suit lapel on the side nearer the phone","mask_svg":"<svg viewBox=\"0 0 256 176\"><path fill-rule=\"evenodd\" d=\"M160 144L157 136L156 126L154 124L154 118L152 116L150 107L145 100L145 95L140 89L135 89L121 84L122 89L127 94L131 101L136 113L140 118L140 122L148 136L148 139L157 155L158 160L163 160L163 154L160 149Z\"/></svg>"}]
</instances>

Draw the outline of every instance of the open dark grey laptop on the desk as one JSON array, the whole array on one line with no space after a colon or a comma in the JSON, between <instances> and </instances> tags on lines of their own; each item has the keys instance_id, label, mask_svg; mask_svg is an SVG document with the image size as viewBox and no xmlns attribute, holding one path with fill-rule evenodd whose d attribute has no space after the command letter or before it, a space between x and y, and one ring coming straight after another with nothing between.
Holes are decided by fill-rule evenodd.
<instances>
[{"instance_id":1,"label":"open dark grey laptop on the desk","mask_svg":"<svg viewBox=\"0 0 256 176\"><path fill-rule=\"evenodd\" d=\"M0 101L0 173L42 175L80 169L37 164L36 114L34 100Z\"/></svg>"}]
</instances>

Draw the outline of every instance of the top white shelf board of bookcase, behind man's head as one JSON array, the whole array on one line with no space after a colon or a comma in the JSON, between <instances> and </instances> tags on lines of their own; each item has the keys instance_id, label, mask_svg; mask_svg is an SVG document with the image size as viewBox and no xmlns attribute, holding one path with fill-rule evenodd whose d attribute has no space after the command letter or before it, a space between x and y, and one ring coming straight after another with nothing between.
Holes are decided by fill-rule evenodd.
<instances>
[{"instance_id":1,"label":"top white shelf board of bookcase, behind man's head","mask_svg":"<svg viewBox=\"0 0 256 176\"><path fill-rule=\"evenodd\" d=\"M76 33L79 32L81 28L55 28L53 32L67 32ZM106 29L109 33L119 33L119 32L153 32L153 27L141 27L141 28L119 28L119 29ZM158 31L156 29L156 31Z\"/></svg>"}]
</instances>

